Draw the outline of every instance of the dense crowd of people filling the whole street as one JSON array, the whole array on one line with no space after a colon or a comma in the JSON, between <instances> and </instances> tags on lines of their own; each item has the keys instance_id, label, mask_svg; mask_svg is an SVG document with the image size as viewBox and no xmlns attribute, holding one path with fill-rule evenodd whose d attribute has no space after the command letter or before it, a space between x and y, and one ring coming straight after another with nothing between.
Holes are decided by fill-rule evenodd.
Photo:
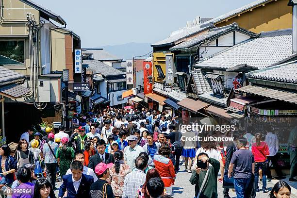
<instances>
[{"instance_id":1,"label":"dense crowd of people filling the whole street","mask_svg":"<svg viewBox=\"0 0 297 198\"><path fill-rule=\"evenodd\" d=\"M218 142L183 141L182 135L193 132L179 132L177 118L168 111L107 108L76 114L71 134L64 125L57 133L50 127L28 128L14 156L7 145L0 148L2 195L55 198L60 175L59 198L170 198L181 160L195 185L195 197L216 198L218 180L223 182L224 198L230 198L231 188L237 198L256 196L259 176L262 190L269 192L267 161L275 165L278 147L274 134L267 133L264 141L263 135L248 129L224 148ZM290 193L290 186L280 181L270 197Z\"/></svg>"}]
</instances>

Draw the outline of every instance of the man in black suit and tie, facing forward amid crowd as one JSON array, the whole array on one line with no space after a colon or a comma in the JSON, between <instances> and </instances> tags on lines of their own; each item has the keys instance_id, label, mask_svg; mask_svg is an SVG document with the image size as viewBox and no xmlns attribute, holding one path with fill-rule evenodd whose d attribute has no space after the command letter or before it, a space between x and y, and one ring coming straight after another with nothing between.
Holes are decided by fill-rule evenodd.
<instances>
[{"instance_id":1,"label":"man in black suit and tie, facing forward amid crowd","mask_svg":"<svg viewBox=\"0 0 297 198\"><path fill-rule=\"evenodd\" d=\"M115 163L114 155L105 152L106 143L103 139L98 140L96 148L98 153L90 157L89 168L92 168L95 171L96 165L101 162L104 164Z\"/></svg>"}]
</instances>

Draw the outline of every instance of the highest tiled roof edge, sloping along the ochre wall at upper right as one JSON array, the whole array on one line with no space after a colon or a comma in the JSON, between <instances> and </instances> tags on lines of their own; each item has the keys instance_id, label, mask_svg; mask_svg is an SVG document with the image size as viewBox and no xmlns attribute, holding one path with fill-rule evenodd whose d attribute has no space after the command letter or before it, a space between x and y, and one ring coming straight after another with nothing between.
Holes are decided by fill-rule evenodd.
<instances>
[{"instance_id":1,"label":"highest tiled roof edge, sloping along the ochre wall at upper right","mask_svg":"<svg viewBox=\"0 0 297 198\"><path fill-rule=\"evenodd\" d=\"M251 9L253 7L259 6L259 5L261 5L263 3L266 3L266 2L269 2L269 1L272 1L272 0L256 0L256 1L251 2L251 3L247 4L247 5L244 5L244 6L240 7L240 8L237 8L235 10L232 10L232 11L228 12L228 13L225 13L225 14L223 14L221 16L217 16L217 17L215 17L215 18L213 18L213 19L211 19L211 20L209 20L209 21L207 21L205 23L211 23L212 22L212 23L216 24L217 22L223 21L223 20L225 20L225 19L227 19L227 18L229 18L231 16L237 15L239 13L248 11L249 9Z\"/></svg>"}]
</instances>

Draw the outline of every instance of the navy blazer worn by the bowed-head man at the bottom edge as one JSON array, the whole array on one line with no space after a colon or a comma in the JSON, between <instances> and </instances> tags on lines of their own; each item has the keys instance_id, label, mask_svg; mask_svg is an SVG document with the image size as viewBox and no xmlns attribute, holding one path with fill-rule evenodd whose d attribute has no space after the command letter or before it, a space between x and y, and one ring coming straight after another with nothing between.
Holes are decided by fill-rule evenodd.
<instances>
[{"instance_id":1,"label":"navy blazer worn by the bowed-head man at the bottom edge","mask_svg":"<svg viewBox=\"0 0 297 198\"><path fill-rule=\"evenodd\" d=\"M59 189L59 198L63 198L65 191L67 190L66 198L89 198L90 197L90 187L91 184L94 183L94 179L92 176L82 174L82 181L77 190L74 189L72 182L72 174L63 175L62 177L63 183Z\"/></svg>"}]
</instances>

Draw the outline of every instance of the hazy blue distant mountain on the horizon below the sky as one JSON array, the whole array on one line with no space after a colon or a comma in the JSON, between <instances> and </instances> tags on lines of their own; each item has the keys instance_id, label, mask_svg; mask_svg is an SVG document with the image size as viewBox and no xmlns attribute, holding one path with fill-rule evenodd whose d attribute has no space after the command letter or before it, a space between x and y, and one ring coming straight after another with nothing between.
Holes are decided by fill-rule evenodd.
<instances>
[{"instance_id":1,"label":"hazy blue distant mountain on the horizon below the sky","mask_svg":"<svg viewBox=\"0 0 297 198\"><path fill-rule=\"evenodd\" d=\"M142 56L152 51L149 43L126 43L114 46L102 46L107 52L115 54L123 60L132 59L134 56Z\"/></svg>"}]
</instances>

